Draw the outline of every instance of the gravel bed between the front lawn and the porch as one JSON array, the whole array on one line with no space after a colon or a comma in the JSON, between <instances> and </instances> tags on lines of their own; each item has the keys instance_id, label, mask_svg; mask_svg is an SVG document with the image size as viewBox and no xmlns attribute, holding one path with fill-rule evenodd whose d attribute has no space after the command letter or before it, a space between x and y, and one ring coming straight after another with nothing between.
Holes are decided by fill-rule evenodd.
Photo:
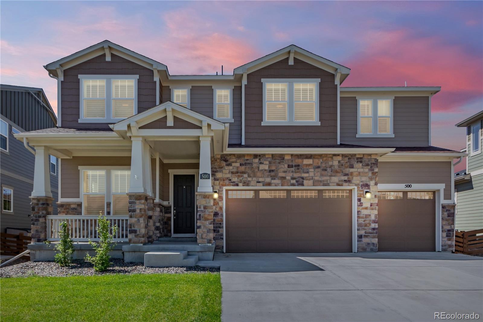
<instances>
[{"instance_id":1,"label":"gravel bed between the front lawn and the porch","mask_svg":"<svg viewBox=\"0 0 483 322\"><path fill-rule=\"evenodd\" d=\"M143 263L124 263L122 259L111 259L111 267L105 272L95 272L94 266L84 260L74 260L70 267L61 267L55 262L24 262L0 268L0 277L28 276L72 276L104 274L183 274L183 273L218 273L218 268L199 266L190 267L144 267Z\"/></svg>"}]
</instances>

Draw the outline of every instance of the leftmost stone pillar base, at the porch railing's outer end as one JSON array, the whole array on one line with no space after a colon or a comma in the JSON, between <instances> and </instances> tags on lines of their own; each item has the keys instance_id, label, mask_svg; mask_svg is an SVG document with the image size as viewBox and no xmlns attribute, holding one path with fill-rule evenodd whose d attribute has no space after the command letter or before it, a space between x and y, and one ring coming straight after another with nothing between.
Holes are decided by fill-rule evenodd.
<instances>
[{"instance_id":1,"label":"leftmost stone pillar base, at the porch railing's outer end","mask_svg":"<svg viewBox=\"0 0 483 322\"><path fill-rule=\"evenodd\" d=\"M32 243L43 243L47 240L47 216L52 215L53 203L52 197L30 197Z\"/></svg>"}]
</instances>

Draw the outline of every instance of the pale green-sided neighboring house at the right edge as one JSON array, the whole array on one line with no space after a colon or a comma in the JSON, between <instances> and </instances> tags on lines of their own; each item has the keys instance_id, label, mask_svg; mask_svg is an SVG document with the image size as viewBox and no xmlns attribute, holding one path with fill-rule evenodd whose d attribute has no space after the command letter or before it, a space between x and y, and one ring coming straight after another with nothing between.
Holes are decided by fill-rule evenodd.
<instances>
[{"instance_id":1,"label":"pale green-sided neighboring house at the right edge","mask_svg":"<svg viewBox=\"0 0 483 322\"><path fill-rule=\"evenodd\" d=\"M483 111L456 124L466 127L466 169L455 173L455 229L483 229Z\"/></svg>"}]
</instances>

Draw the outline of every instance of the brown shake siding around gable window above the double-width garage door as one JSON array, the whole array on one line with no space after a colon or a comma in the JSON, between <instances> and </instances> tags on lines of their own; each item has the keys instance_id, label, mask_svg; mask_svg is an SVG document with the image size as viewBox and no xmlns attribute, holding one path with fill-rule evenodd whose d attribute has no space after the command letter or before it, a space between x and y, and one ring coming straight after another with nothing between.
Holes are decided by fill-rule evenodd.
<instances>
[{"instance_id":1,"label":"brown shake siding around gable window above the double-width garage door","mask_svg":"<svg viewBox=\"0 0 483 322\"><path fill-rule=\"evenodd\" d=\"M262 126L262 78L320 78L319 119L321 126ZM299 59L288 58L249 73L245 85L245 144L321 145L337 144L337 86L334 74Z\"/></svg>"}]
</instances>

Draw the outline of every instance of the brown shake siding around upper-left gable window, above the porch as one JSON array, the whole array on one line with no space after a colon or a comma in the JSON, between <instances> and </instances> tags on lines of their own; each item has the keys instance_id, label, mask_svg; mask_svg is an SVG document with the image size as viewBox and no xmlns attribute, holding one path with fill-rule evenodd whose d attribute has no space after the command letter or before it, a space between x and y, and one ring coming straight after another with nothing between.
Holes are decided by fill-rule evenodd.
<instances>
[{"instance_id":1,"label":"brown shake siding around upper-left gable window, above the porch","mask_svg":"<svg viewBox=\"0 0 483 322\"><path fill-rule=\"evenodd\" d=\"M153 71L128 59L105 55L89 59L64 71L62 88L62 127L66 128L108 128L108 123L79 123L79 74L99 75L139 75L138 113L156 106L156 82Z\"/></svg>"}]
</instances>

